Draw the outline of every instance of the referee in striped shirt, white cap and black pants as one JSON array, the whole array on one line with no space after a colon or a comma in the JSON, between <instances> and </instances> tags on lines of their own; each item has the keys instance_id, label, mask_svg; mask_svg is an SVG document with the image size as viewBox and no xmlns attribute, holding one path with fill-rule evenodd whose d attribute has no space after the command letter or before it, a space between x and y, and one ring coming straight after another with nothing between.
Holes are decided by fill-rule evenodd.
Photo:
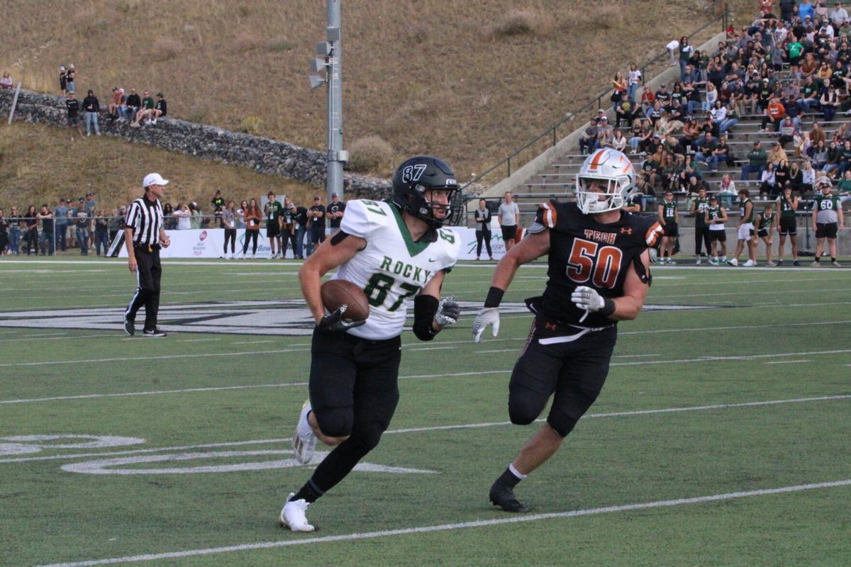
<instances>
[{"instance_id":1,"label":"referee in striped shirt, white cap and black pants","mask_svg":"<svg viewBox=\"0 0 851 567\"><path fill-rule=\"evenodd\" d=\"M165 337L166 333L157 329L157 311L159 310L160 276L163 267L160 264L160 247L168 247L168 235L163 230L163 198L168 179L159 173L148 173L142 181L145 196L130 203L125 219L124 243L127 245L127 267L136 275L136 293L127 311L124 312L124 331L129 335L136 332L136 312L145 306L145 337Z\"/></svg>"}]
</instances>

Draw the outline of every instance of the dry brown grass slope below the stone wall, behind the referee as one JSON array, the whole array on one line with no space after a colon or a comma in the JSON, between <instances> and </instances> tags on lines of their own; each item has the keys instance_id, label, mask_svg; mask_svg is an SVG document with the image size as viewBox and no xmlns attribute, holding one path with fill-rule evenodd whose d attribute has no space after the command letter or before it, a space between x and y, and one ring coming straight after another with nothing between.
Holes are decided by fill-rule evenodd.
<instances>
[{"instance_id":1,"label":"dry brown grass slope below the stone wall, behind the referee","mask_svg":"<svg viewBox=\"0 0 851 567\"><path fill-rule=\"evenodd\" d=\"M6 211L10 205L54 204L60 196L77 199L89 191L94 191L105 207L125 204L139 196L141 179L153 171L170 181L165 201L197 201L203 210L216 189L235 201L260 199L274 190L278 195L294 195L300 203L310 202L316 192L307 185L245 167L129 145L111 137L93 136L71 143L59 128L0 125L0 208Z\"/></svg>"}]
</instances>

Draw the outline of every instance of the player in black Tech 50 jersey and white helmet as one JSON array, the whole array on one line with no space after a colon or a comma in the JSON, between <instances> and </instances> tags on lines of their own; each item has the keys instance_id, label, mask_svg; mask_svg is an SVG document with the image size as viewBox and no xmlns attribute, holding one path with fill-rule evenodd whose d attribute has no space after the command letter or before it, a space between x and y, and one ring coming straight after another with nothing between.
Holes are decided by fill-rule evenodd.
<instances>
[{"instance_id":1,"label":"player in black Tech 50 jersey and white helmet","mask_svg":"<svg viewBox=\"0 0 851 567\"><path fill-rule=\"evenodd\" d=\"M499 331L499 305L517 268L548 254L544 295L527 299L535 320L509 382L512 423L534 422L554 395L543 428L523 445L490 489L506 512L527 512L514 487L540 467L603 388L617 337L617 321L635 319L650 285L648 247L662 234L654 218L621 209L634 170L618 150L597 150L576 176L576 202L550 201L538 209L527 236L497 265L488 298L473 323Z\"/></svg>"}]
</instances>

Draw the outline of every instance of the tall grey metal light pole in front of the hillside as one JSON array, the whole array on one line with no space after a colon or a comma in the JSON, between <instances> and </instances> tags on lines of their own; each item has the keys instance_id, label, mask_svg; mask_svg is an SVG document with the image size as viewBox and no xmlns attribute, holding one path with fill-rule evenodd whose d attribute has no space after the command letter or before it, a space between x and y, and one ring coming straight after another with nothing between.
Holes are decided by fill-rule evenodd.
<instances>
[{"instance_id":1,"label":"tall grey metal light pole in front of the hillside","mask_svg":"<svg viewBox=\"0 0 851 567\"><path fill-rule=\"evenodd\" d=\"M343 150L343 49L340 36L340 3L328 0L328 26L325 37L328 41L317 43L317 57L311 60L311 88L328 83L328 156L326 158L326 190L331 194L343 195L343 165L349 153Z\"/></svg>"}]
</instances>

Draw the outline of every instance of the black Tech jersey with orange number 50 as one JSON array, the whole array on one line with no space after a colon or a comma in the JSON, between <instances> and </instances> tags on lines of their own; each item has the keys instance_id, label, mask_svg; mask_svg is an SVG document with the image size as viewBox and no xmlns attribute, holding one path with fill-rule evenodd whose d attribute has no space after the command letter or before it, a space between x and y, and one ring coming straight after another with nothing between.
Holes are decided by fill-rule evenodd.
<instances>
[{"instance_id":1,"label":"black Tech jersey with orange number 50","mask_svg":"<svg viewBox=\"0 0 851 567\"><path fill-rule=\"evenodd\" d=\"M604 298L624 295L624 281L632 263L662 233L654 218L620 213L611 224L600 224L583 214L576 203L550 201L541 205L536 228L550 230L549 269L541 315L561 325L608 326L612 320L591 313L580 323L585 311L570 300L578 286L593 287Z\"/></svg>"}]
</instances>

